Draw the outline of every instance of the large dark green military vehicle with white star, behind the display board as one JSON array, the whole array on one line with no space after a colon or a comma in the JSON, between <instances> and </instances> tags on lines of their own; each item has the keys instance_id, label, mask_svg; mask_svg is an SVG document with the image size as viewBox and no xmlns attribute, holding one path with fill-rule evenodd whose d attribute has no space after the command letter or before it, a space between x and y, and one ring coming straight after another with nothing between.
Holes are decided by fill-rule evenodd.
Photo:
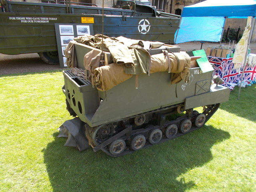
<instances>
[{"instance_id":1,"label":"large dark green military vehicle with white star, behind the display board","mask_svg":"<svg viewBox=\"0 0 256 192\"><path fill-rule=\"evenodd\" d=\"M140 1L122 2L115 8L104 8L105 35L174 43L179 16L158 12ZM58 64L54 24L89 23L93 25L91 35L102 32L102 7L74 3L0 0L0 53L38 53L44 62Z\"/></svg>"}]
</instances>

